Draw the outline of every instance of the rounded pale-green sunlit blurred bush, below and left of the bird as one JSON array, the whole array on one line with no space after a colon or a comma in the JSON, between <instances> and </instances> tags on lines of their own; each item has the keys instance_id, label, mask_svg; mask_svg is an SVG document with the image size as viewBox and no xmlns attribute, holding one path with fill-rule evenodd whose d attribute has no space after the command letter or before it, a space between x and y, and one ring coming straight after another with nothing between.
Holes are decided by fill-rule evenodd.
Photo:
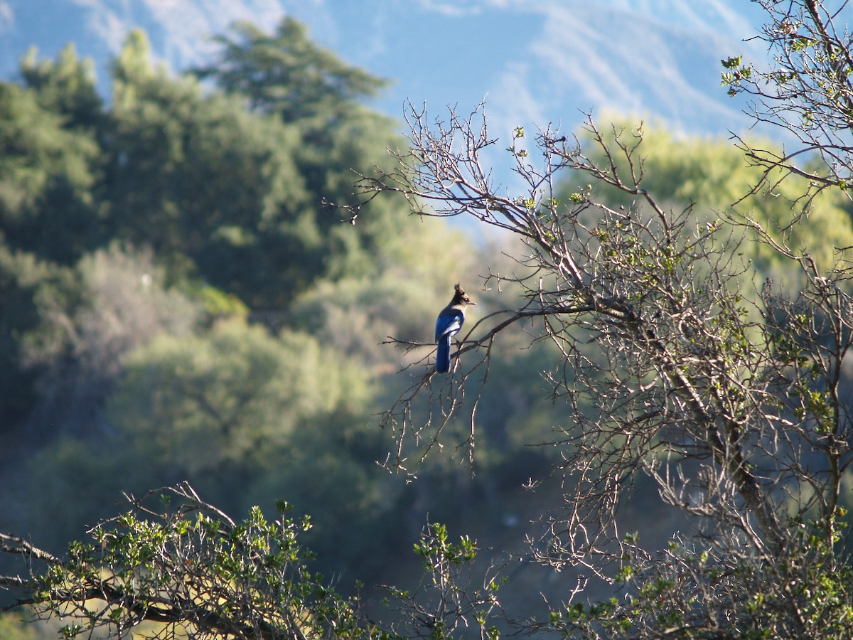
<instances>
[{"instance_id":1,"label":"rounded pale-green sunlit blurred bush, below and left of the bird","mask_svg":"<svg viewBox=\"0 0 853 640\"><path fill-rule=\"evenodd\" d=\"M361 415L369 398L354 364L310 335L272 337L235 319L132 352L107 411L131 451L158 459L166 477L234 477L235 466L272 468L299 428Z\"/></svg>"}]
</instances>

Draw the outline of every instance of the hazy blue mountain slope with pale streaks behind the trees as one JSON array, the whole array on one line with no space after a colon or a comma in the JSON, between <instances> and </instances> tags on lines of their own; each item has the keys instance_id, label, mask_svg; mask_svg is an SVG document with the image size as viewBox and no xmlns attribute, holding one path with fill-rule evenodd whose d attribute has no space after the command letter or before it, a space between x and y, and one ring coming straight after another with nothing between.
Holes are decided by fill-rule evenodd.
<instances>
[{"instance_id":1,"label":"hazy blue mountain slope with pale streaks behind the trees","mask_svg":"<svg viewBox=\"0 0 853 640\"><path fill-rule=\"evenodd\" d=\"M345 58L395 84L375 106L403 102L468 111L484 97L492 131L562 122L578 109L666 120L722 133L748 123L720 87L720 59L756 45L761 14L745 0L0 0L0 74L34 44L53 56L68 41L107 60L135 26L174 69L211 55L211 34L233 20L271 29L283 14ZM752 50L757 59L760 49Z\"/></svg>"}]
</instances>

